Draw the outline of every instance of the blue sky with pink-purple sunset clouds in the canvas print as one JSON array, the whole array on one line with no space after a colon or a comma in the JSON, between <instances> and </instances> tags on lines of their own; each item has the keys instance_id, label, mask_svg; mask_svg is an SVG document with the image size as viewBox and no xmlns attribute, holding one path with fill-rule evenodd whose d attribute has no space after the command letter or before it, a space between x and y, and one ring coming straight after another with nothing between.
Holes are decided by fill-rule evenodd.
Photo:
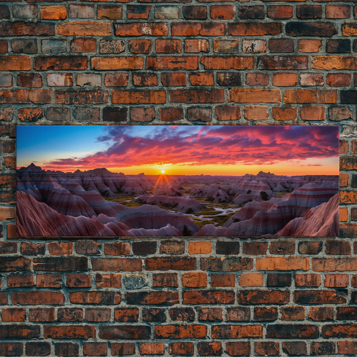
<instances>
[{"instance_id":1,"label":"blue sky with pink-purple sunset clouds in the canvas print","mask_svg":"<svg viewBox=\"0 0 357 357\"><path fill-rule=\"evenodd\" d=\"M17 168L338 175L338 126L17 126Z\"/></svg>"}]
</instances>

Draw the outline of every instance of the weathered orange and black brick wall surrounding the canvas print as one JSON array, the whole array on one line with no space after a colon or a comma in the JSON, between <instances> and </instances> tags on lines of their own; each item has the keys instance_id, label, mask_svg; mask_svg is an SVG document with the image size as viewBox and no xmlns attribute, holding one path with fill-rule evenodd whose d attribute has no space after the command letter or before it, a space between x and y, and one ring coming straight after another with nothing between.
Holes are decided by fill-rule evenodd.
<instances>
[{"instance_id":1,"label":"weathered orange and black brick wall surrounding the canvas print","mask_svg":"<svg viewBox=\"0 0 357 357\"><path fill-rule=\"evenodd\" d=\"M171 1L0 5L0 356L356 354L357 5ZM18 240L59 122L339 124L340 238Z\"/></svg>"}]
</instances>

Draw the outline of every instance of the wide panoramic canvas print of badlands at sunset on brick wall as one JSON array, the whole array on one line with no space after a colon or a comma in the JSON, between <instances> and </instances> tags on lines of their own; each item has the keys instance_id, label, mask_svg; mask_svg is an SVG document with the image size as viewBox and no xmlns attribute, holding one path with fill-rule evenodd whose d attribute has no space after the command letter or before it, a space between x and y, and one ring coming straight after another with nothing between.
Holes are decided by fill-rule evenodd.
<instances>
[{"instance_id":1,"label":"wide panoramic canvas print of badlands at sunset on brick wall","mask_svg":"<svg viewBox=\"0 0 357 357\"><path fill-rule=\"evenodd\" d=\"M337 126L17 126L17 236L338 236Z\"/></svg>"}]
</instances>

